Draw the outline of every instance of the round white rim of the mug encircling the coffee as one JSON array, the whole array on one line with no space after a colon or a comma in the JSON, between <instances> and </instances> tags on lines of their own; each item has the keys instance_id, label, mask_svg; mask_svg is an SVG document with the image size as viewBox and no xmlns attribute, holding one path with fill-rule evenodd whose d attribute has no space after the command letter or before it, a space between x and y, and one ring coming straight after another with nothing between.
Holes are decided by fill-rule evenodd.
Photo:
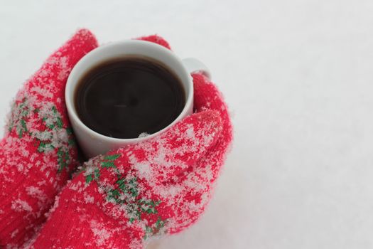
<instances>
[{"instance_id":1,"label":"round white rim of the mug encircling the coffee","mask_svg":"<svg viewBox=\"0 0 373 249\"><path fill-rule=\"evenodd\" d=\"M84 73L77 73L78 69L80 67L82 67L83 65L87 64L87 63L89 64L91 58L94 58L94 56L97 56L99 53L102 53L102 50L104 50L104 49L106 49L108 47L112 47L112 46L126 46L128 44L136 44L136 43L137 44L141 44L141 46L151 47L152 49L158 50L161 53L166 54L168 57L173 57L173 58L175 58L175 60L178 61L178 63L183 68L183 73L185 73L185 75L188 76L188 83L187 83L187 85L189 86L189 90L188 90L188 92L186 92L187 89L185 89L185 92L186 92L185 105L183 107L183 110L180 112L180 114L178 115L178 117L176 117L175 120L173 120L173 122L171 122L170 124L168 124L163 129L160 129L158 132L155 132L155 133L152 133L152 134L148 134L146 137L136 137L136 138L107 137L107 136L105 136L103 134L100 134L99 132L95 132L90 127L87 127L87 125L84 122L82 122L82 120L80 120L80 118L77 115L77 112L75 110L75 107L74 107L74 105L75 105L74 104L74 97L75 97L74 95L75 95L75 88L76 88L77 84L75 84L74 88L72 88L72 84L74 82L76 82L77 80L79 80L80 77L82 77L82 75L87 72L87 70L84 70ZM129 55L130 54L134 55L134 53L129 53ZM147 56L147 55L143 55L143 56ZM117 58L119 58L119 57L117 57ZM104 60L109 60L110 58L115 58L115 57L114 56L108 56L107 58L104 58ZM148 56L148 58L152 58L152 57ZM157 59L154 58L154 60L157 60ZM163 62L161 62L161 63L163 63ZM92 63L92 65L90 65L90 67L94 67L94 65L95 65L95 63ZM180 75L181 75L180 72L175 72L173 70L173 73L175 73L175 75L178 76L178 78L180 79L180 81L183 82L182 78L180 78ZM72 92L72 94L70 94L70 92ZM161 45L159 45L157 43L152 43L152 42L149 42L149 41L141 41L141 40L114 41L114 42L106 43L106 44L104 44L102 46L99 46L97 48L94 48L92 51L90 51L89 53L87 53L86 55L84 55L82 58L80 58L80 60L75 64L75 66L72 68L72 70L71 70L71 72L70 72L70 74L69 74L69 76L67 78L67 82L66 82L66 86L65 86L65 105L66 105L66 108L67 108L68 115L70 117L70 123L72 123L71 120L74 120L74 122L77 125L79 125L82 129L85 129L85 132L88 132L91 136L97 137L98 139L104 140L105 142L138 143L138 142L142 142L142 141L145 141L147 139L151 139L153 137L156 137L158 134L161 134L162 132L166 131L166 129L168 129L169 127L173 126L176 122L180 121L183 117L185 117L185 115L187 114L188 110L190 109L190 106L193 104L193 92L194 92L194 89L193 89L193 80L192 80L192 77L191 77L190 73L188 73L188 70L185 68L185 66L182 63L182 60L178 57L178 55L175 55L175 53L173 53L168 48L165 48L165 47L163 47L163 46L161 46Z\"/></svg>"}]
</instances>

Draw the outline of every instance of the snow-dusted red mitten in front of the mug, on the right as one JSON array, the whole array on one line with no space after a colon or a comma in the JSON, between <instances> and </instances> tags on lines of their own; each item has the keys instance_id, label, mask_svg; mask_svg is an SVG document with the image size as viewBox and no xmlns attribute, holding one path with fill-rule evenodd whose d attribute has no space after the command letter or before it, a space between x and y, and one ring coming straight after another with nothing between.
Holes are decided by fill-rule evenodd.
<instances>
[{"instance_id":1,"label":"snow-dusted red mitten in front of the mug, on the right","mask_svg":"<svg viewBox=\"0 0 373 249\"><path fill-rule=\"evenodd\" d=\"M31 248L142 248L149 237L177 233L198 219L232 125L215 85L198 74L193 82L196 113L154 139L88 161Z\"/></svg>"}]
</instances>

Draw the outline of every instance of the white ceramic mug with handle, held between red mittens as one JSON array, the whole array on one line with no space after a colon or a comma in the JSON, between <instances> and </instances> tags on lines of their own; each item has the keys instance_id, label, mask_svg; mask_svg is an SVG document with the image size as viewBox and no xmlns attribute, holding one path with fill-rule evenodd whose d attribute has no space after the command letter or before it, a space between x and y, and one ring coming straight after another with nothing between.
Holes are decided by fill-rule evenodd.
<instances>
[{"instance_id":1,"label":"white ceramic mug with handle, held between red mittens","mask_svg":"<svg viewBox=\"0 0 373 249\"><path fill-rule=\"evenodd\" d=\"M74 95L77 83L88 70L104 61L114 58L124 58L132 55L150 58L166 65L175 75L178 76L180 82L185 89L185 107L178 117L167 127L160 131L149 134L147 137L119 139L107 137L87 127L78 117L74 104ZM95 48L90 53L87 53L72 69L69 78L67 79L65 89L65 101L67 112L70 117L72 129L74 129L77 142L86 157L94 157L98 154L104 154L111 149L124 147L127 144L134 144L146 139L156 137L161 132L171 127L173 124L186 117L193 112L193 79L190 73L201 71L207 77L210 77L210 72L207 67L199 60L187 58L180 60L175 53L160 46L156 43L139 40L119 41L108 43L99 48Z\"/></svg>"}]
</instances>

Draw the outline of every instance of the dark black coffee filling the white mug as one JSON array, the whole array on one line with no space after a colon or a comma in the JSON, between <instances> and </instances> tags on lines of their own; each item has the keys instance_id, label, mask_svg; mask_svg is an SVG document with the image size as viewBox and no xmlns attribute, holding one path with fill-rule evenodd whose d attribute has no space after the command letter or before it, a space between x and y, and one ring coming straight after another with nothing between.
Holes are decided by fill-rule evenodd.
<instances>
[{"instance_id":1,"label":"dark black coffee filling the white mug","mask_svg":"<svg viewBox=\"0 0 373 249\"><path fill-rule=\"evenodd\" d=\"M75 92L80 120L108 137L158 132L180 115L184 105L180 80L160 63L145 58L97 65L82 77Z\"/></svg>"}]
</instances>

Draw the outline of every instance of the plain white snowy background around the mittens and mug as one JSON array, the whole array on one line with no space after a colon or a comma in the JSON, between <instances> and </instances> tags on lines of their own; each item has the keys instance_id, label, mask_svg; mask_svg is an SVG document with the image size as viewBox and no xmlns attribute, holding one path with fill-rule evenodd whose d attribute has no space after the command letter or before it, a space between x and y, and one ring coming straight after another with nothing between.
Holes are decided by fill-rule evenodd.
<instances>
[{"instance_id":1,"label":"plain white snowy background around the mittens and mug","mask_svg":"<svg viewBox=\"0 0 373 249\"><path fill-rule=\"evenodd\" d=\"M205 216L161 248L373 248L373 1L0 3L1 117L77 27L158 33L211 69L234 147Z\"/></svg>"}]
</instances>

